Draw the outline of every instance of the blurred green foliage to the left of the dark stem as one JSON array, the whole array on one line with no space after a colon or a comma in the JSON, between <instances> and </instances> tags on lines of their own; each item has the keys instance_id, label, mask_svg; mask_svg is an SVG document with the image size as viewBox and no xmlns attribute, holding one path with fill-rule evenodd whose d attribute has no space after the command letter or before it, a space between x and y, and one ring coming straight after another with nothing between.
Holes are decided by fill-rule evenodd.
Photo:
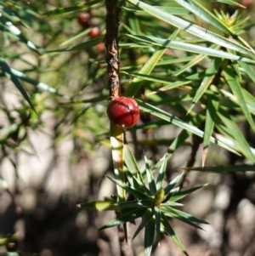
<instances>
[{"instance_id":1,"label":"blurred green foliage to the left of the dark stem","mask_svg":"<svg viewBox=\"0 0 255 256\"><path fill-rule=\"evenodd\" d=\"M94 9L99 8L104 8L102 2L94 6ZM94 12L90 3L80 5L77 10L80 9ZM71 9L66 14L67 10L64 9L65 17L53 16L45 3L0 3L1 79L3 84L8 81L6 78L10 79L24 97L24 100L20 98L22 106L13 108L2 94L0 108L5 123L1 123L0 146L3 151L6 148L24 151L27 142L31 147L27 129L42 129L42 116L48 111L58 120L55 126L55 142L58 143L66 135L71 134L74 137L74 159L83 151L83 146L92 151L95 141L99 140L98 136L105 139L108 129L105 126L107 89L102 86L106 71L102 64L104 54L98 53L93 47L103 37L90 38L88 33L91 28L86 31L81 29L77 24L78 13L73 12L74 10ZM102 25L103 20L104 12L97 18L96 23ZM71 37L76 42L82 42L84 37L88 41L81 43L80 48L76 47L81 50L80 53L65 54L69 50ZM59 47L60 44L63 47ZM96 86L88 88L92 84ZM6 89L13 92L9 83ZM88 122L83 122L84 117ZM95 119L99 121L96 124L92 121Z\"/></svg>"}]
</instances>

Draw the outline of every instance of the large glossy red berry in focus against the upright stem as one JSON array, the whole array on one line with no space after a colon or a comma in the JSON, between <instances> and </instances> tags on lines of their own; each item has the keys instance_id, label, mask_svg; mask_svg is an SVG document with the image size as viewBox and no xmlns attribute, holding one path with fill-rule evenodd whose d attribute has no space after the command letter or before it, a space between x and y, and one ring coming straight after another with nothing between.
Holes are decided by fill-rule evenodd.
<instances>
[{"instance_id":1,"label":"large glossy red berry in focus against the upright stem","mask_svg":"<svg viewBox=\"0 0 255 256\"><path fill-rule=\"evenodd\" d=\"M131 128L139 120L139 105L133 98L118 97L108 105L107 114L116 126Z\"/></svg>"}]
</instances>

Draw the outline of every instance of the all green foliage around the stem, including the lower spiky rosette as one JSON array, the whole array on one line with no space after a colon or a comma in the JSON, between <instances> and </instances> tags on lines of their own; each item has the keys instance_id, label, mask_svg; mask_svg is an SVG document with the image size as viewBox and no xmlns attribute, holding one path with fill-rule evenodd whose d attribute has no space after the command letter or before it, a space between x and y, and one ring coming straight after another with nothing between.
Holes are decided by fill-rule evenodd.
<instances>
[{"instance_id":1,"label":"all green foliage around the stem, including the lower spiky rosette","mask_svg":"<svg viewBox=\"0 0 255 256\"><path fill-rule=\"evenodd\" d=\"M53 1L55 7L48 8L47 1L31 2L0 2L0 77L3 82L13 82L22 96L20 105L14 108L1 96L0 110L6 124L1 124L0 146L7 158L7 148L25 151L23 146L28 144L33 152L28 130L40 130L44 125L43 114L50 111L57 120L54 143L71 136L73 158L77 161L84 148L94 153L98 143L110 144L105 113L108 97L105 55L95 48L104 42L105 3L72 1L71 6L67 3L60 6L59 1ZM109 179L116 184L118 196L122 193L121 200L113 196L80 206L118 213L102 229L142 218L133 236L145 229L146 255L151 253L154 234L159 243L161 232L171 236L187 255L169 219L196 228L206 223L177 209L181 206L178 200L204 185L182 191L178 182L184 179L183 174L167 185L164 180L167 161L181 145L190 145L190 136L201 138L203 159L201 167L187 167L186 171L218 174L254 171L255 150L241 129L241 124L246 124L247 132L254 135L255 51L249 38L254 20L249 20L239 3L217 2L218 9L212 10L215 1L119 1L123 94L135 97L140 110L151 118L130 131L135 134L138 130L175 126L180 132L175 139L143 141L133 136L136 147L168 147L155 166L145 157L142 168L138 168L127 146L122 154L119 139L121 149L112 151L121 156L125 167L123 174ZM228 13L226 4L236 6L234 14ZM91 28L77 27L77 14L81 10L94 16L96 26L102 31L99 37L89 37ZM211 143L243 156L246 164L204 167ZM128 183L123 181L125 178ZM5 184L2 178L1 184ZM126 201L125 192L135 199Z\"/></svg>"}]
</instances>

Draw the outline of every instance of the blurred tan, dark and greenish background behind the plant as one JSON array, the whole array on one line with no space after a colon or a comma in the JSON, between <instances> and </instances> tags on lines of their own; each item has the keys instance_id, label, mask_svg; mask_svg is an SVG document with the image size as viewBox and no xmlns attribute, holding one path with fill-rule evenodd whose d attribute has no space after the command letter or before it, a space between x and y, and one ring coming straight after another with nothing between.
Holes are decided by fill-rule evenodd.
<instances>
[{"instance_id":1,"label":"blurred tan, dark and greenish background behind the plant","mask_svg":"<svg viewBox=\"0 0 255 256\"><path fill-rule=\"evenodd\" d=\"M113 167L109 121L105 112L108 88L101 37L105 34L104 3L65 14L59 11L59 14L46 15L42 14L80 2L31 0L0 3L0 10L6 14L1 17L0 34L0 254L15 255L8 254L8 250L18 251L20 255L42 256L120 255L117 230L97 230L115 218L114 213L77 208L80 202L102 200L116 192L115 186L105 177L105 174L113 177ZM249 22L253 24L255 3L252 0L242 0L241 3L247 8L240 10L241 15L250 15L252 20ZM2 4L16 18L9 17ZM236 9L214 2L208 2L207 8L223 9L229 14ZM128 23L131 15L128 12L121 14L120 34L127 26L134 26ZM4 19L12 19L23 37L7 31ZM150 24L154 21L144 22ZM166 33L161 32L162 35ZM254 27L251 26L245 37L250 38L254 45ZM73 45L89 40L101 43L69 51ZM37 46L36 50L28 47L29 41ZM148 53L148 49L120 48L121 65L133 65L138 59L136 64L139 66ZM169 50L165 58L178 54ZM4 74L4 63L26 76L20 75L23 76L20 81L37 113L27 104L15 81ZM166 69L171 69L171 66ZM122 76L121 79L125 84L130 78ZM169 94L178 95L178 89ZM75 103L70 104L70 100ZM170 106L166 109L171 111ZM148 120L154 121L153 117L143 114L139 125ZM241 129L254 147L254 134L247 129L246 122L241 123ZM144 152L153 161L158 161L178 132L178 128L168 124L156 129L133 128L126 136L142 165ZM196 145L195 156L191 156L189 143L174 152L167 166L167 179L172 179L180 168L187 166L190 157L193 157L193 165L201 166L199 139ZM243 162L245 159L241 156L216 145L210 146L207 165ZM204 230L195 230L173 221L173 228L190 256L255 255L254 172L224 175L191 172L184 186L204 183L209 185L184 199L184 211L206 219L210 225L202 226ZM134 225L128 228L132 235ZM134 255L144 255L142 235L133 241ZM10 238L7 245L3 245L1 236ZM178 256L182 253L168 237L163 236L161 247L155 247L153 255Z\"/></svg>"}]
</instances>

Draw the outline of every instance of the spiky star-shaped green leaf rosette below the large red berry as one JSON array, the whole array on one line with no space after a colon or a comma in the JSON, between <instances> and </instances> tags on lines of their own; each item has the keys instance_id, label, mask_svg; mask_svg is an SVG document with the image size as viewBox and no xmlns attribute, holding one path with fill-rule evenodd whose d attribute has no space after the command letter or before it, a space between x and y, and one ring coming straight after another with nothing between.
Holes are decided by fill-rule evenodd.
<instances>
[{"instance_id":1,"label":"spiky star-shaped green leaf rosette below the large red berry","mask_svg":"<svg viewBox=\"0 0 255 256\"><path fill-rule=\"evenodd\" d=\"M200 228L200 226L196 224L207 224L204 220L197 219L188 213L175 209L182 206L182 204L177 202L179 199L188 196L190 193L200 189L204 185L197 186L192 190L179 191L179 188L176 187L176 185L183 177L183 174L179 174L164 187L163 181L167 168L167 155L163 156L161 160L156 163L155 167L150 167L151 162L145 156L145 169L142 168L137 170L137 168L133 168L134 166L137 166L137 163L134 160L132 152L128 149L128 146L126 146L125 152L125 156L127 156L125 174L129 185L125 185L117 179L112 179L111 177L108 178L117 186L120 186L125 190L129 195L132 195L135 199L126 202L114 202L113 200L105 200L105 202L84 202L79 206L97 211L115 210L117 212L116 219L111 220L111 222L102 226L99 230L110 228L115 225L122 225L128 221L133 222L133 220L141 218L142 221L134 232L133 238L137 236L141 230L145 229L145 255L150 255L151 253L155 230L156 241L158 244L161 241L161 232L164 232L167 236L171 236L173 242L178 245L185 255L188 255L167 219L179 219L196 228ZM160 169L155 179L154 173L156 173L158 167L160 167Z\"/></svg>"}]
</instances>

